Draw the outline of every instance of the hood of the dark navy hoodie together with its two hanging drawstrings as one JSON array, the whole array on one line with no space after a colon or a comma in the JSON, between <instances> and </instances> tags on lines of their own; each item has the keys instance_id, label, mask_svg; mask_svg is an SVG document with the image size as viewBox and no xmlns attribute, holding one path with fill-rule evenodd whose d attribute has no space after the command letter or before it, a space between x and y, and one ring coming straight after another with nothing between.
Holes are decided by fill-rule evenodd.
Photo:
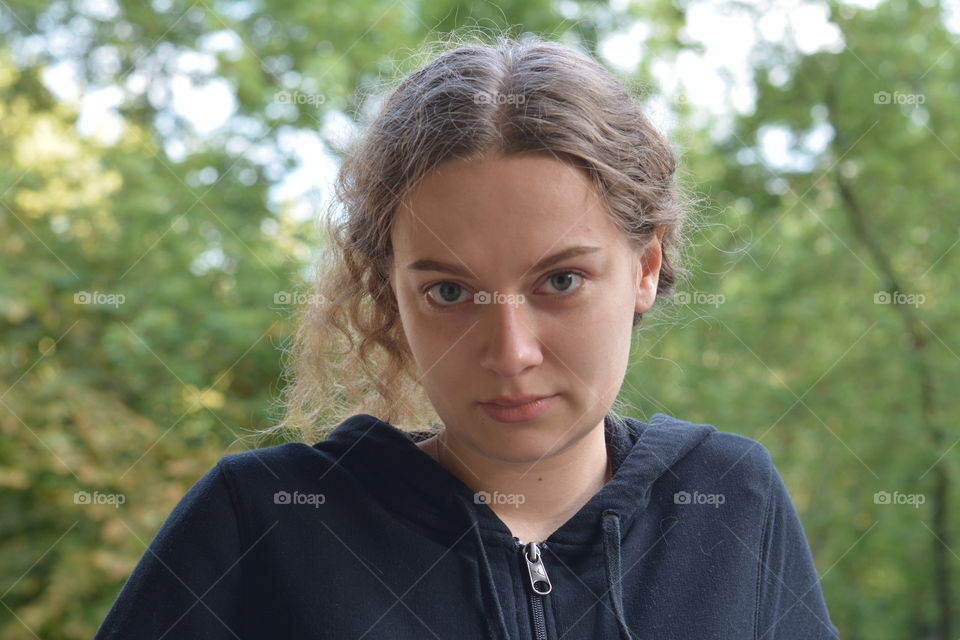
<instances>
[{"instance_id":1,"label":"hood of the dark navy hoodie together with its two hanging drawstrings","mask_svg":"<svg viewBox=\"0 0 960 640\"><path fill-rule=\"evenodd\" d=\"M459 478L421 451L416 442L436 434L439 428L403 431L368 414L342 422L327 438L350 455L341 464L362 465L370 490L384 508L419 528L438 543L452 546L465 532L476 547L481 571L477 594L488 617L488 637L509 638L500 598L487 557L489 545L519 548L515 538L496 513L475 500L475 492ZM576 514L554 531L539 548L551 545L602 545L607 578L606 596L616 615L620 637L631 640L621 588L621 543L636 518L650 501L653 484L672 473L671 467L697 447L716 427L694 424L666 414L654 414L650 422L633 418L604 418L607 451L613 477Z\"/></svg>"}]
</instances>

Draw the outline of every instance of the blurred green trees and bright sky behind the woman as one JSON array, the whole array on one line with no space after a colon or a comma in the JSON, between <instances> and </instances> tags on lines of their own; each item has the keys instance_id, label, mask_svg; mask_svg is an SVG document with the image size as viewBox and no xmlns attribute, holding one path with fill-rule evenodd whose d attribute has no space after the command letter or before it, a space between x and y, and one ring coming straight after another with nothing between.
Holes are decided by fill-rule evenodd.
<instances>
[{"instance_id":1,"label":"blurred green trees and bright sky behind the woman","mask_svg":"<svg viewBox=\"0 0 960 640\"><path fill-rule=\"evenodd\" d=\"M595 55L702 199L628 414L771 451L845 640L960 637L960 2L936 0L0 0L0 636L89 638L279 417L339 158L463 27Z\"/></svg>"}]
</instances>

